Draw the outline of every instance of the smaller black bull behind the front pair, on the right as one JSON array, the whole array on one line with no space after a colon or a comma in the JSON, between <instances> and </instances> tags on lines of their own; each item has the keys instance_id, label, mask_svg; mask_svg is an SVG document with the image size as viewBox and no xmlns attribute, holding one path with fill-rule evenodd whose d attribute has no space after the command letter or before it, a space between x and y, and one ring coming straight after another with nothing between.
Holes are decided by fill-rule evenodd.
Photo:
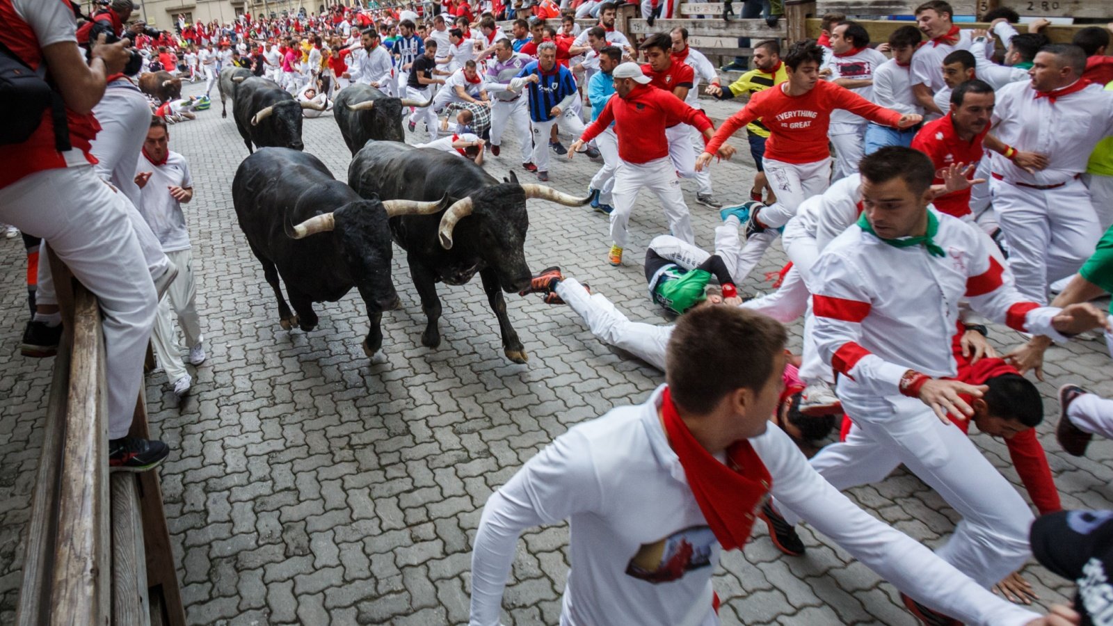
<instances>
[{"instance_id":1,"label":"smaller black bull behind the front pair, on the right","mask_svg":"<svg viewBox=\"0 0 1113 626\"><path fill-rule=\"evenodd\" d=\"M370 85L354 84L336 95L333 117L352 154L371 139L405 141L402 133L402 109L427 107L430 102L394 98Z\"/></svg>"}]
</instances>

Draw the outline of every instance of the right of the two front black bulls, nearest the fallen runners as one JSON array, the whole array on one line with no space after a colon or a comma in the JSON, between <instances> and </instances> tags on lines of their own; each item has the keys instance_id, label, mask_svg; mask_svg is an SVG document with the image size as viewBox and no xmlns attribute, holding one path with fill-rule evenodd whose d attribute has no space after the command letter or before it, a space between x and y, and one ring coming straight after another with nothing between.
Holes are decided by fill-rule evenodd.
<instances>
[{"instance_id":1,"label":"right of the two front black bulls, nearest the fallen runners","mask_svg":"<svg viewBox=\"0 0 1113 626\"><path fill-rule=\"evenodd\" d=\"M582 206L590 198L577 198L544 185L499 183L465 158L397 141L367 141L348 167L348 184L365 198L446 198L452 203L435 215L390 221L391 235L406 251L410 275L429 321L422 344L436 348L441 343L436 283L462 285L479 272L499 319L506 358L525 363L525 349L510 325L500 292L500 287L508 293L521 291L530 282L523 250L530 225L525 200L544 198Z\"/></svg>"}]
</instances>

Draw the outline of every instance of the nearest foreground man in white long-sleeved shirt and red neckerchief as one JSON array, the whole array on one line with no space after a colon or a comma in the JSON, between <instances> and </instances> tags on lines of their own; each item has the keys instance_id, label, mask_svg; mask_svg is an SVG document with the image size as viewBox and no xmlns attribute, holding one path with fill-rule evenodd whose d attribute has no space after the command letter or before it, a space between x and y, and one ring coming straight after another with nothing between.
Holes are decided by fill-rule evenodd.
<instances>
[{"instance_id":1,"label":"nearest foreground man in white long-sleeved shirt and red neckerchief","mask_svg":"<svg viewBox=\"0 0 1113 626\"><path fill-rule=\"evenodd\" d=\"M769 426L785 342L779 323L742 309L681 316L667 385L572 428L487 500L471 624L499 624L519 534L569 519L562 625L717 625L711 576L723 549L746 544L769 495L918 601L968 624L1041 624L854 506Z\"/></svg>"}]
</instances>

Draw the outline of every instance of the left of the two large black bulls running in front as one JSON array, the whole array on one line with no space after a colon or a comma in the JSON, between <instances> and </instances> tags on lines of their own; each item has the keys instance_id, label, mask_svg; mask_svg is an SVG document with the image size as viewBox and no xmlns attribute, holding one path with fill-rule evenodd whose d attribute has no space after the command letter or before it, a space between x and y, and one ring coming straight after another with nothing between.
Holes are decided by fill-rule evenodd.
<instances>
[{"instance_id":1,"label":"left of the two large black bulls running in front","mask_svg":"<svg viewBox=\"0 0 1113 626\"><path fill-rule=\"evenodd\" d=\"M447 203L364 199L315 156L289 148L260 148L244 159L232 198L239 227L278 301L282 327L297 324L312 331L317 325L313 303L336 302L354 286L371 321L363 351L383 362L383 311L398 301L391 281L387 219L437 213Z\"/></svg>"}]
</instances>

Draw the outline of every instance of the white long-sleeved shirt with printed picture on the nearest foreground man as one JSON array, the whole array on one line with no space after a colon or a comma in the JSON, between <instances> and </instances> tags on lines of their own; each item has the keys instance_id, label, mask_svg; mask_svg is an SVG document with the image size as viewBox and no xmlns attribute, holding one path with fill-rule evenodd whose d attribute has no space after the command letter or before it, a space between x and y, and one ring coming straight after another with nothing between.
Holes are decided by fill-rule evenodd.
<instances>
[{"instance_id":1,"label":"white long-sleeved shirt with printed picture on the nearest foreground man","mask_svg":"<svg viewBox=\"0 0 1113 626\"><path fill-rule=\"evenodd\" d=\"M473 626L499 624L519 534L563 519L571 522L574 565L562 626L719 623L711 575L721 547L669 447L658 417L662 390L643 404L572 428L491 496L472 554ZM967 624L1012 626L1036 618L856 507L776 426L750 443L780 506L917 600Z\"/></svg>"}]
</instances>

